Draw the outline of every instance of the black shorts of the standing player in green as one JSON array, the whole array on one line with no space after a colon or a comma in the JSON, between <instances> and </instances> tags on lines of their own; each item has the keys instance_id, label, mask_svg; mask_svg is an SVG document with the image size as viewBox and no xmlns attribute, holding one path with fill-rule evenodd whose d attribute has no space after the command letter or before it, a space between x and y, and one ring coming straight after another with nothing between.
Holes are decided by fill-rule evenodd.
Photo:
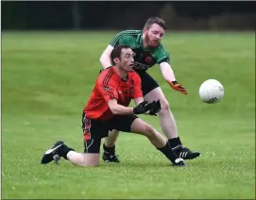
<instances>
[{"instance_id":1,"label":"black shorts of the standing player in green","mask_svg":"<svg viewBox=\"0 0 256 200\"><path fill-rule=\"evenodd\" d=\"M148 75L146 72L138 74L142 78L142 91L144 96L148 92L151 92L159 87L158 82L151 75Z\"/></svg>"}]
</instances>

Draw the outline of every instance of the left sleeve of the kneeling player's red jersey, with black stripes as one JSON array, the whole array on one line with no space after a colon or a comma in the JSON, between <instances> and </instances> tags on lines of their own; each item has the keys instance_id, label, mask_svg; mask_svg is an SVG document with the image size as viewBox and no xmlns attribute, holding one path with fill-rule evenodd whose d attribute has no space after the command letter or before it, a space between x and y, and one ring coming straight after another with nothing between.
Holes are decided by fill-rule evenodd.
<instances>
[{"instance_id":1,"label":"left sleeve of the kneeling player's red jersey, with black stripes","mask_svg":"<svg viewBox=\"0 0 256 200\"><path fill-rule=\"evenodd\" d=\"M118 99L118 92L111 81L109 81L107 84L104 82L106 82L104 79L99 79L97 81L96 87L98 92L102 94L106 103L108 103L111 99Z\"/></svg>"}]
</instances>

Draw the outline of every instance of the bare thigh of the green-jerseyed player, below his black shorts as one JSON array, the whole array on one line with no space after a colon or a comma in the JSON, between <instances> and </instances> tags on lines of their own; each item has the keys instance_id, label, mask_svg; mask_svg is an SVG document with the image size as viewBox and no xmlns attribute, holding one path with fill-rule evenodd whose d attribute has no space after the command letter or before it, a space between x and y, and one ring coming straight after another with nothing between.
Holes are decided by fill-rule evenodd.
<instances>
[{"instance_id":1,"label":"bare thigh of the green-jerseyed player, below his black shorts","mask_svg":"<svg viewBox=\"0 0 256 200\"><path fill-rule=\"evenodd\" d=\"M169 109L169 103L166 100L166 98L162 92L162 89L160 87L155 88L154 90L148 92L144 96L144 99L145 99L145 101L148 101L148 102L160 100L162 110Z\"/></svg>"}]
</instances>

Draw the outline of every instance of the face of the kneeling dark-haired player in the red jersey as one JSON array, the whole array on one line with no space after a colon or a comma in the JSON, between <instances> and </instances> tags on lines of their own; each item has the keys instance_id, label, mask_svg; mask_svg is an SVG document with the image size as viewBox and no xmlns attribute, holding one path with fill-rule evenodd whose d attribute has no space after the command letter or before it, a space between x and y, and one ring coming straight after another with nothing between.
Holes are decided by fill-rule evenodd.
<instances>
[{"instance_id":1,"label":"face of the kneeling dark-haired player in the red jersey","mask_svg":"<svg viewBox=\"0 0 256 200\"><path fill-rule=\"evenodd\" d=\"M128 48L128 49L122 49L121 52L121 59L120 59L120 66L125 70L125 71L132 71L132 67L134 64L134 52Z\"/></svg>"}]
</instances>

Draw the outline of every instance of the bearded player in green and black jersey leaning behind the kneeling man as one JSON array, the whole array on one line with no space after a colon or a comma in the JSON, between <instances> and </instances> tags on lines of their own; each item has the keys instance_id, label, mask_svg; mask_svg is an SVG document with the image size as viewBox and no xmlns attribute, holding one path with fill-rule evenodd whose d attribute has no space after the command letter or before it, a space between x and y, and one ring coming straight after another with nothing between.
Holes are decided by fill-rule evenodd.
<instances>
[{"instance_id":1,"label":"bearded player in green and black jersey leaning behind the kneeling man","mask_svg":"<svg viewBox=\"0 0 256 200\"><path fill-rule=\"evenodd\" d=\"M118 33L111 43L107 46L100 63L102 70L111 66L111 50L117 44L128 44L132 51L136 53L133 69L142 78L142 91L146 101L151 102L160 99L161 111L158 113L162 131L168 139L169 145L179 158L193 159L200 156L197 151L191 151L184 147L179 139L178 129L174 116L170 110L162 89L157 81L146 73L146 70L156 63L159 65L162 76L170 87L178 92L187 94L186 89L178 83L170 65L170 58L162 46L162 37L165 32L165 23L158 17L149 18L145 23L143 30L125 30ZM107 162L119 162L115 155L115 142L118 137L118 131L112 130L109 137L103 144L103 159Z\"/></svg>"}]
</instances>

